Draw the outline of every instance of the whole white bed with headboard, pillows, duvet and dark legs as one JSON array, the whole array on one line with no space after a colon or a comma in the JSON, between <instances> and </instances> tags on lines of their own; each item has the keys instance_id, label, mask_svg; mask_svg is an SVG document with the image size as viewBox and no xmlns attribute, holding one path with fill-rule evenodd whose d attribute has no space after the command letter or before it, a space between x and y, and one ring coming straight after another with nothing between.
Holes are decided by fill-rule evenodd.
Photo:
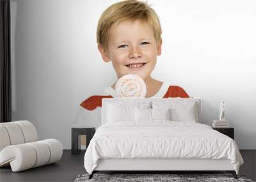
<instances>
[{"instance_id":1,"label":"whole white bed with headboard, pillows, duvet and dark legs","mask_svg":"<svg viewBox=\"0 0 256 182\"><path fill-rule=\"evenodd\" d=\"M104 98L102 126L84 155L99 171L227 171L243 158L230 137L202 124L200 98Z\"/></svg>"}]
</instances>

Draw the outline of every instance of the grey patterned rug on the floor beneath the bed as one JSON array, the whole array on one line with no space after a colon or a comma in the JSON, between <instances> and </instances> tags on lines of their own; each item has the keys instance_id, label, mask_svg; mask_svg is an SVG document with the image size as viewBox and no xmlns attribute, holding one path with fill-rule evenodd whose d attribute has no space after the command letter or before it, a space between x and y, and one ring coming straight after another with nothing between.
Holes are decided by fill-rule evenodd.
<instances>
[{"instance_id":1,"label":"grey patterned rug on the floor beneath the bed","mask_svg":"<svg viewBox=\"0 0 256 182\"><path fill-rule=\"evenodd\" d=\"M251 179L246 179L244 176L238 175L238 179L234 179L232 174L99 174L93 175L92 179L88 179L89 174L79 174L74 182L86 181L171 181L171 182L190 182L190 181L243 181L253 182Z\"/></svg>"}]
</instances>

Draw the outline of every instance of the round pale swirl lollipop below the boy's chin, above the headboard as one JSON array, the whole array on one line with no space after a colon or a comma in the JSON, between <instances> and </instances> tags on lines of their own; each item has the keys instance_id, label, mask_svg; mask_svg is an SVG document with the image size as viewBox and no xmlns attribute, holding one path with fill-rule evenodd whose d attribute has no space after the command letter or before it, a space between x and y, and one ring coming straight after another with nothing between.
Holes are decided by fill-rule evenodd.
<instances>
[{"instance_id":1,"label":"round pale swirl lollipop below the boy's chin, above the headboard","mask_svg":"<svg viewBox=\"0 0 256 182\"><path fill-rule=\"evenodd\" d=\"M139 76L129 74L117 80L115 93L118 98L145 98L147 87Z\"/></svg>"}]
</instances>

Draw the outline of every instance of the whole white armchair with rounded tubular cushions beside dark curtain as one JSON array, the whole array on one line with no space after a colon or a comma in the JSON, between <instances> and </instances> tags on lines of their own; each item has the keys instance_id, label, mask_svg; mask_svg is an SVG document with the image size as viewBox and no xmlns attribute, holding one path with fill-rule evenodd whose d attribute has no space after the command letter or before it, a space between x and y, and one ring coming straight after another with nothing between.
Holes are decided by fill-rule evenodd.
<instances>
[{"instance_id":1,"label":"whole white armchair with rounded tubular cushions beside dark curtain","mask_svg":"<svg viewBox=\"0 0 256 182\"><path fill-rule=\"evenodd\" d=\"M29 121L0 123L0 167L11 165L13 172L56 162L62 156L56 139L38 140Z\"/></svg>"}]
</instances>

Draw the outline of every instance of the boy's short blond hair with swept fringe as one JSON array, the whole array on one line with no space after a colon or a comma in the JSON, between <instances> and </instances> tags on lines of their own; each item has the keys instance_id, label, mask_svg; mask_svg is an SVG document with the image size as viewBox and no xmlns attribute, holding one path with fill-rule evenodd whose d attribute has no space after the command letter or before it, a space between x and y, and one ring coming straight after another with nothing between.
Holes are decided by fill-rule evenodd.
<instances>
[{"instance_id":1,"label":"boy's short blond hair with swept fringe","mask_svg":"<svg viewBox=\"0 0 256 182\"><path fill-rule=\"evenodd\" d=\"M156 11L147 2L127 0L112 4L101 15L97 27L97 43L108 52L108 31L111 26L127 20L141 20L152 26L157 47L161 42L161 24Z\"/></svg>"}]
</instances>

